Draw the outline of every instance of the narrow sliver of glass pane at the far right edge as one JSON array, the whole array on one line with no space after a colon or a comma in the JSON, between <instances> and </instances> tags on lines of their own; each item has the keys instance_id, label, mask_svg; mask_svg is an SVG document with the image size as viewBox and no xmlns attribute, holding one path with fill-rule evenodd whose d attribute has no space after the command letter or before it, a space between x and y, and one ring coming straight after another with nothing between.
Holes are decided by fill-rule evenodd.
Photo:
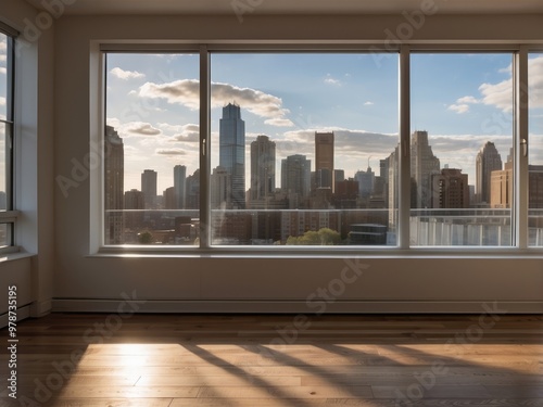
<instances>
[{"instance_id":1,"label":"narrow sliver of glass pane at the far right edge","mask_svg":"<svg viewBox=\"0 0 543 407\"><path fill-rule=\"evenodd\" d=\"M543 246L543 53L528 60L529 85L529 244Z\"/></svg>"}]
</instances>

